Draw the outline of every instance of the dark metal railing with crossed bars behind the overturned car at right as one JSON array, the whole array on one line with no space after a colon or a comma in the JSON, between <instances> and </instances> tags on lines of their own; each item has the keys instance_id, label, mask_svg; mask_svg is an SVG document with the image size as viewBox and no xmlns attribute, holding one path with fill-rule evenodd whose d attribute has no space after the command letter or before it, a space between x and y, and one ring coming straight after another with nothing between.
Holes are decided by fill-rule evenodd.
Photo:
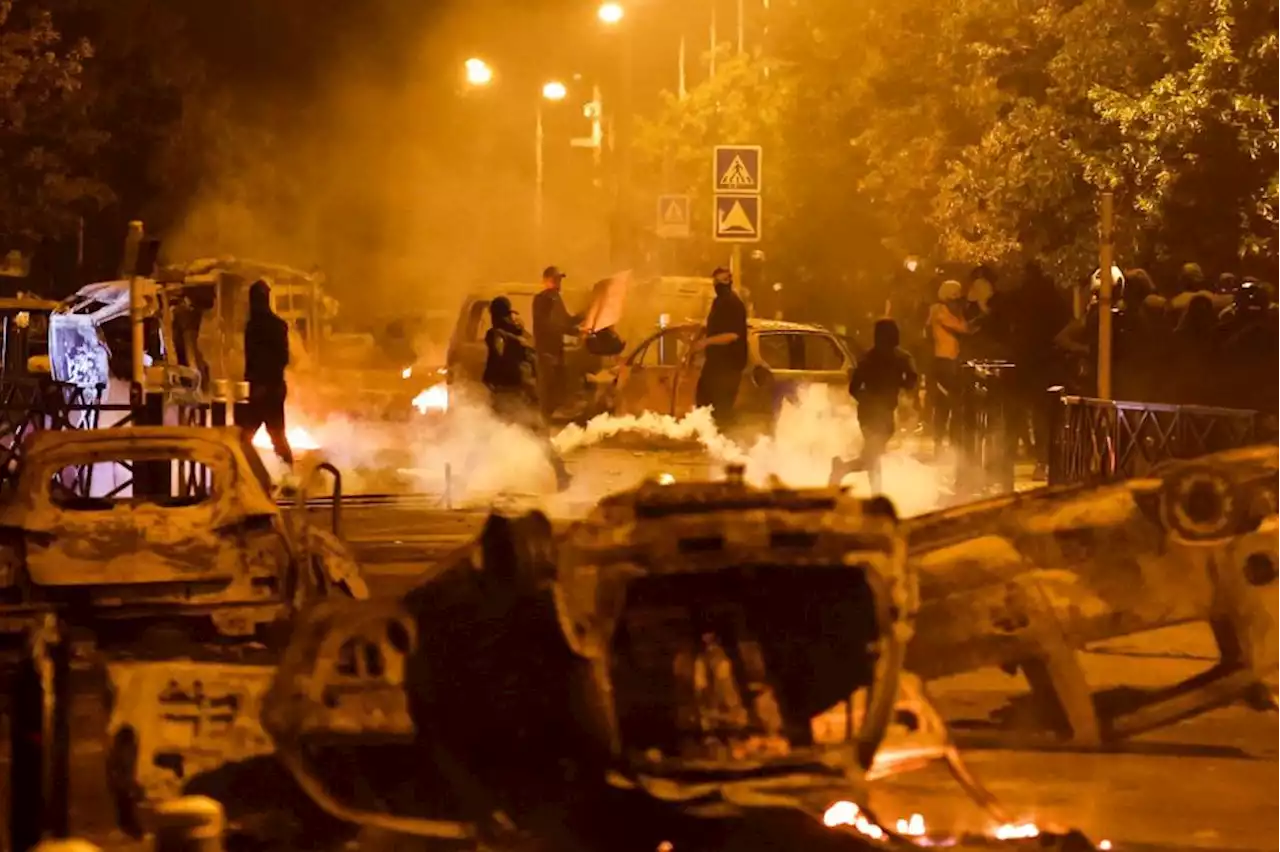
<instances>
[{"instance_id":1,"label":"dark metal railing with crossed bars behind the overturned car at right","mask_svg":"<svg viewBox=\"0 0 1280 852\"><path fill-rule=\"evenodd\" d=\"M1144 476L1156 464L1248 446L1275 435L1263 416L1238 408L1071 397L1050 389L1048 484Z\"/></svg>"}]
</instances>

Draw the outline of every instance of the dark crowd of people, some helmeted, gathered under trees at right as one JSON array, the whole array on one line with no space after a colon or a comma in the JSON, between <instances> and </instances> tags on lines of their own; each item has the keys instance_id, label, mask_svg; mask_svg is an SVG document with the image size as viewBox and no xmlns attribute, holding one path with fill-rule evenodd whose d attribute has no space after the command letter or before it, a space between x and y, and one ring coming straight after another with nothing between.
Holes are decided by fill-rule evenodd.
<instances>
[{"instance_id":1,"label":"dark crowd of people, some helmeted, gathered under trees at right","mask_svg":"<svg viewBox=\"0 0 1280 852\"><path fill-rule=\"evenodd\" d=\"M1097 394L1096 271L1079 298L1036 264L1012 280L978 266L966 281L945 279L920 306L910 347L925 375L924 429L934 446L955 435L961 367L1004 361L1019 400L1020 443L1043 467L1048 409L1043 394L1062 386ZM1224 272L1210 281L1197 264L1157 284L1142 269L1112 267L1112 388L1115 399L1280 411L1280 306L1271 284ZM1087 296L1085 296L1087 294Z\"/></svg>"}]
</instances>

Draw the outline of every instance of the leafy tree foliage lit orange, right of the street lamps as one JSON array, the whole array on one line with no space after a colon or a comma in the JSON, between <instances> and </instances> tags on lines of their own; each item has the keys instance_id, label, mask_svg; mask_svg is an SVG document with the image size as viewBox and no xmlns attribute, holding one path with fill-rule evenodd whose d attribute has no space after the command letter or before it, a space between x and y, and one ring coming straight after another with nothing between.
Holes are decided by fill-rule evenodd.
<instances>
[{"instance_id":1,"label":"leafy tree foliage lit orange, right of the street lamps","mask_svg":"<svg viewBox=\"0 0 1280 852\"><path fill-rule=\"evenodd\" d=\"M772 15L763 54L669 100L641 156L682 164L649 170L662 189L705 193L710 146L764 145L765 251L799 281L884 276L913 253L1034 257L1078 279L1103 189L1124 264L1275 249L1271 3L806 0Z\"/></svg>"}]
</instances>

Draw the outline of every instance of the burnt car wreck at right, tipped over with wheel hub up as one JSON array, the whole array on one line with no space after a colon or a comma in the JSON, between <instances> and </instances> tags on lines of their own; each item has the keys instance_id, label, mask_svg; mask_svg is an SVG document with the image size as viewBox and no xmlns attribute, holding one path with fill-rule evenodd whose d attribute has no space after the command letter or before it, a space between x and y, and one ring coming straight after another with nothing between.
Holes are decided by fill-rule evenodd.
<instances>
[{"instance_id":1,"label":"burnt car wreck at right, tipped over with wheel hub up","mask_svg":"<svg viewBox=\"0 0 1280 852\"><path fill-rule=\"evenodd\" d=\"M1098 748L1234 701L1272 707L1280 668L1280 449L1169 462L906 522L920 611L908 667L925 679L1020 672L1033 739ZM1091 645L1178 624L1219 660L1164 690L1096 692Z\"/></svg>"}]
</instances>

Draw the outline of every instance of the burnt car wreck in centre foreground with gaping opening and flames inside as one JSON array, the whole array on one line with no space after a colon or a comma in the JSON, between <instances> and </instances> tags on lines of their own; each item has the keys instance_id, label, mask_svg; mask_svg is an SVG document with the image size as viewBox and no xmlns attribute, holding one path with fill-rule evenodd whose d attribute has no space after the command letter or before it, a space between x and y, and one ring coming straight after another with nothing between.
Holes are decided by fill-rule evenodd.
<instances>
[{"instance_id":1,"label":"burnt car wreck in centre foreground with gaping opening and flames inside","mask_svg":"<svg viewBox=\"0 0 1280 852\"><path fill-rule=\"evenodd\" d=\"M902 670L901 532L883 499L733 476L614 495L558 540L493 516L403 599L303 613L264 725L332 816L466 848L916 846L852 802L932 760L1007 821ZM836 802L851 826L823 825Z\"/></svg>"}]
</instances>

